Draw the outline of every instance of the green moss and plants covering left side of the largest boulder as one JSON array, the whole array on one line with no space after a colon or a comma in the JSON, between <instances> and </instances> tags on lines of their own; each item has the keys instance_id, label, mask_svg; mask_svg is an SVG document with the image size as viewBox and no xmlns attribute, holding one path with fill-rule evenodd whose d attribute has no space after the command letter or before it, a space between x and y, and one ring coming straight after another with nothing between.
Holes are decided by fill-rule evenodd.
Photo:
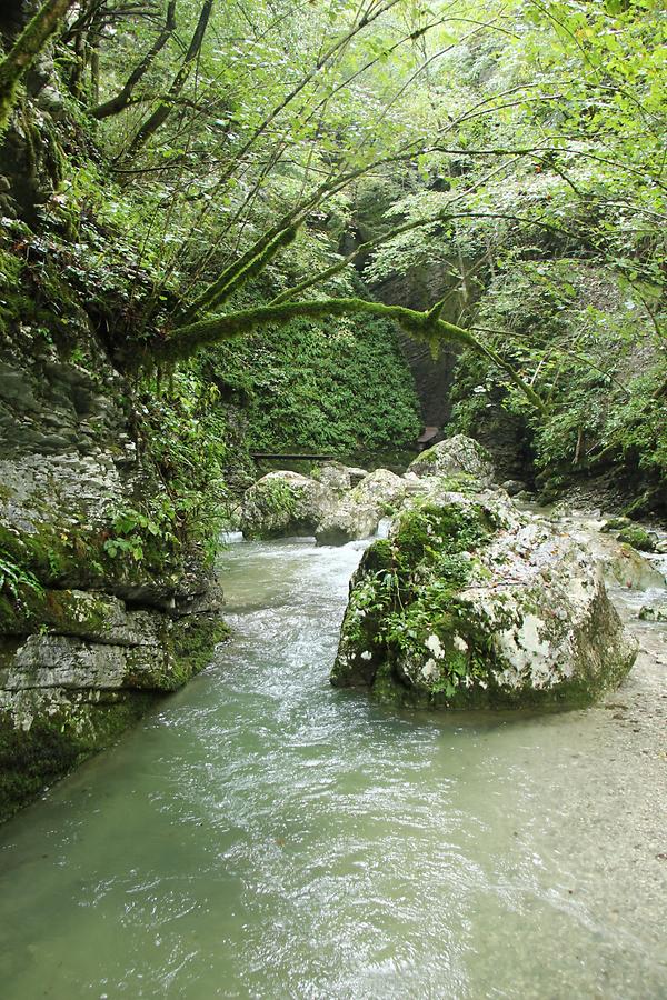
<instances>
[{"instance_id":1,"label":"green moss and plants covering left side of the largest boulder","mask_svg":"<svg viewBox=\"0 0 667 1000\"><path fill-rule=\"evenodd\" d=\"M404 510L392 537L376 541L361 560L334 682L366 682L384 699L397 684L399 694L391 698L409 701L415 692L427 699L451 696L459 678L482 676L479 660L457 646L469 633L457 593L479 572L471 553L491 533L487 513L475 503L414 501ZM419 669L432 658L428 643L435 641L442 651L439 673L422 679ZM365 650L371 660L361 656ZM410 673L409 686L398 664Z\"/></svg>"}]
</instances>

